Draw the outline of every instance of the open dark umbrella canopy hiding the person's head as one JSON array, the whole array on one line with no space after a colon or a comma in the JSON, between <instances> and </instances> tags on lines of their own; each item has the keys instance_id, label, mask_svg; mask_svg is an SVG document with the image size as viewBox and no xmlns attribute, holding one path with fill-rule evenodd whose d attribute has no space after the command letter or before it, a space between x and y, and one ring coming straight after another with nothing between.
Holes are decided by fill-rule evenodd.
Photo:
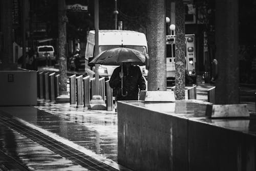
<instances>
[{"instance_id":1,"label":"open dark umbrella canopy hiding the person's head","mask_svg":"<svg viewBox=\"0 0 256 171\"><path fill-rule=\"evenodd\" d=\"M89 66L94 64L121 65L124 62L132 62L132 65L145 65L147 54L132 48L118 47L106 50L96 56Z\"/></svg>"}]
</instances>

